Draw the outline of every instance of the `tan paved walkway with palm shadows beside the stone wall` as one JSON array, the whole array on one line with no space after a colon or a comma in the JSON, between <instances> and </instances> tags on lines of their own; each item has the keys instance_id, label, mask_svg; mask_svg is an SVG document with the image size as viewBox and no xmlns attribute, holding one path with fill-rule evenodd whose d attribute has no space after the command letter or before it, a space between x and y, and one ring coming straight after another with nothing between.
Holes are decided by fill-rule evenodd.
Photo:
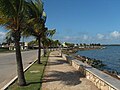
<instances>
[{"instance_id":1,"label":"tan paved walkway with palm shadows beside the stone wall","mask_svg":"<svg viewBox=\"0 0 120 90\"><path fill-rule=\"evenodd\" d=\"M58 51L51 52L42 83L42 90L99 90L75 70Z\"/></svg>"}]
</instances>

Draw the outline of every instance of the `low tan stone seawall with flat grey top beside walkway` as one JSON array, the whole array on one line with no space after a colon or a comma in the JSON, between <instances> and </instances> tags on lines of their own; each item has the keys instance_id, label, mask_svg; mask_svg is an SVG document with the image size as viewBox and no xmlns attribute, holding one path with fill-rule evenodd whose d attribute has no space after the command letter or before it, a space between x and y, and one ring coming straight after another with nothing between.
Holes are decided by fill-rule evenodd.
<instances>
[{"instance_id":1,"label":"low tan stone seawall with flat grey top beside walkway","mask_svg":"<svg viewBox=\"0 0 120 90\"><path fill-rule=\"evenodd\" d=\"M62 54L62 56L100 90L120 90L120 80L65 54Z\"/></svg>"}]
</instances>

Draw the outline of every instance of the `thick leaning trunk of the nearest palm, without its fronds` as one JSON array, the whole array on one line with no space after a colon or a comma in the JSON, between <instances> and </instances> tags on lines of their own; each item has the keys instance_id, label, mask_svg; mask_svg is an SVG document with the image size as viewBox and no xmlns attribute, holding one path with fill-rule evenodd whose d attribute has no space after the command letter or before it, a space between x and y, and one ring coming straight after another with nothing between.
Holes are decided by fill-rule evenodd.
<instances>
[{"instance_id":1,"label":"thick leaning trunk of the nearest palm, without its fronds","mask_svg":"<svg viewBox=\"0 0 120 90\"><path fill-rule=\"evenodd\" d=\"M23 72L22 56L20 51L20 32L16 31L14 33L14 42L16 47L16 62L17 62L17 73L18 73L18 84L20 86L25 86L26 81Z\"/></svg>"}]
</instances>

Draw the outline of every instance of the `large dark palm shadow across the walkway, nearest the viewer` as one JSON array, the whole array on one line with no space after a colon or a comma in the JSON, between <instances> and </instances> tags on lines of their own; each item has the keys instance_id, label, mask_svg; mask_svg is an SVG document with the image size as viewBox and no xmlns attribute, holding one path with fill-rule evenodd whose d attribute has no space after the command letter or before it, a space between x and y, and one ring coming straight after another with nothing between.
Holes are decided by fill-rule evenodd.
<instances>
[{"instance_id":1,"label":"large dark palm shadow across the walkway, nearest the viewer","mask_svg":"<svg viewBox=\"0 0 120 90\"><path fill-rule=\"evenodd\" d=\"M43 83L45 82L53 82L53 81L61 81L65 85L78 85L81 83L80 78L84 77L79 71L72 72L60 72L60 71L52 71L51 74L45 75L43 79Z\"/></svg>"}]
</instances>

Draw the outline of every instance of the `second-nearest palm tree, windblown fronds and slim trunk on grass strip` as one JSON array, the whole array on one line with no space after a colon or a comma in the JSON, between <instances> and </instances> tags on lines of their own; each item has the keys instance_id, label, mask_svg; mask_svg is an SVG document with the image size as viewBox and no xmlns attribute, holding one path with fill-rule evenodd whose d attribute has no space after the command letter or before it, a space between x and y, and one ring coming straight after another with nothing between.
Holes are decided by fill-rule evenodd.
<instances>
[{"instance_id":1,"label":"second-nearest palm tree, windblown fronds and slim trunk on grass strip","mask_svg":"<svg viewBox=\"0 0 120 90\"><path fill-rule=\"evenodd\" d=\"M41 64L40 57L41 57L41 38L45 29L45 22L46 22L46 14L43 11L43 3L41 0L32 1L29 0L27 4L27 29L25 31L26 35L32 35L36 37L38 40L38 64Z\"/></svg>"}]
</instances>

